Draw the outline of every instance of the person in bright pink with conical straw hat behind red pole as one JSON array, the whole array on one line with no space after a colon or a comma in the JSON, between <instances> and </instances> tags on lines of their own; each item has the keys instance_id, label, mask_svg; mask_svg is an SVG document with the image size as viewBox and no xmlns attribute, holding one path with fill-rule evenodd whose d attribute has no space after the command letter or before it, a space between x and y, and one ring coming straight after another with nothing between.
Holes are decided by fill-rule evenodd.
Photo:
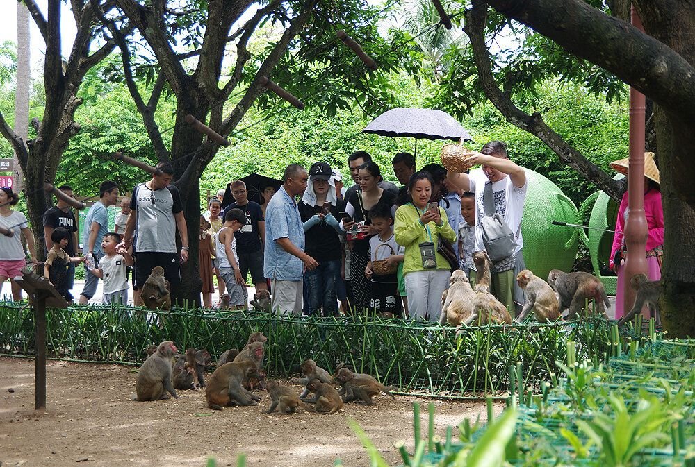
<instances>
[{"instance_id":1,"label":"person in bright pink with conical straw hat behind red pole","mask_svg":"<svg viewBox=\"0 0 695 467\"><path fill-rule=\"evenodd\" d=\"M628 160L629 158L616 160L609 165L616 172L627 176L630 168ZM662 257L664 255L664 210L661 204L661 192L659 189L659 169L657 169L654 162L654 153L644 153L644 179L644 215L646 216L648 228L646 243L647 275L649 280L660 280ZM623 229L629 214L628 192L625 192L618 210L613 247L610 255L610 267L618 274L615 319L621 319L624 316L626 306L627 309L632 307L632 304L623 303L625 284L621 278L625 269L625 258L627 255Z\"/></svg>"}]
</instances>

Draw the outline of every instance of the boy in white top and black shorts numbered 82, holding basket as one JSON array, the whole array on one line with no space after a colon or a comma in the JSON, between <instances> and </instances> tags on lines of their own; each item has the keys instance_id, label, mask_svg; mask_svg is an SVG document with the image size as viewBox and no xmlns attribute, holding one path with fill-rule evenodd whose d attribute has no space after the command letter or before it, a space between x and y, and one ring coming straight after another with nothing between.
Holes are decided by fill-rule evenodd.
<instances>
[{"instance_id":1,"label":"boy in white top and black shorts numbered 82, holding basket","mask_svg":"<svg viewBox=\"0 0 695 467\"><path fill-rule=\"evenodd\" d=\"M398 293L398 278L396 266L403 262L404 256L398 255L398 244L393 236L393 216L391 207L386 204L377 204L369 211L369 219L372 222L377 235L369 239L371 260L364 270L366 278L371 278L370 308L386 318L402 316L402 307ZM382 246L384 245L384 246ZM377 275L372 269L372 262L386 260L393 266L393 273Z\"/></svg>"}]
</instances>

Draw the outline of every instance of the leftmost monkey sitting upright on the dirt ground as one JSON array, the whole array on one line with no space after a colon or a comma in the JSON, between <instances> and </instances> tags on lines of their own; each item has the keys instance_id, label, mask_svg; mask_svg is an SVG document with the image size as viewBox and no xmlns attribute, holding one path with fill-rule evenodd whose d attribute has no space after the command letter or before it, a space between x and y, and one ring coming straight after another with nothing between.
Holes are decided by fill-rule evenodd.
<instances>
[{"instance_id":1,"label":"leftmost monkey sitting upright on the dirt ground","mask_svg":"<svg viewBox=\"0 0 695 467\"><path fill-rule=\"evenodd\" d=\"M177 351L172 341L164 341L156 353L145 360L135 384L136 400L168 399L167 392L174 398L179 397L172 386L172 359Z\"/></svg>"}]
</instances>

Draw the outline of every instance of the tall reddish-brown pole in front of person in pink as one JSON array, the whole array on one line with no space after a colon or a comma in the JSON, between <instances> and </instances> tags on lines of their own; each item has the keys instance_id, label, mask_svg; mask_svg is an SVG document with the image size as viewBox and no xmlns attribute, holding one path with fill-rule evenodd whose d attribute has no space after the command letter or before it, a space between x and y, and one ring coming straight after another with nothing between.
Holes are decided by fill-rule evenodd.
<instances>
[{"instance_id":1,"label":"tall reddish-brown pole in front of person in pink","mask_svg":"<svg viewBox=\"0 0 695 467\"><path fill-rule=\"evenodd\" d=\"M632 6L630 19L639 31L644 31L641 19ZM647 273L647 219L644 215L644 94L630 87L630 159L628 165L628 206L630 214L625 223L625 244L628 257L620 280L623 282L623 316L635 303L635 291L630 287L633 275ZM645 314L648 319L648 314Z\"/></svg>"}]
</instances>

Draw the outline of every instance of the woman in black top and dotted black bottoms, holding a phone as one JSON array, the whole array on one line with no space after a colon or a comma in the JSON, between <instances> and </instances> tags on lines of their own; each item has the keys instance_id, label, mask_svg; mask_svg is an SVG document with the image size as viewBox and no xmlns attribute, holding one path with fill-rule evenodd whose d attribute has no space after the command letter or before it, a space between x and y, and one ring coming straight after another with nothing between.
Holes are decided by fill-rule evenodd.
<instances>
[{"instance_id":1,"label":"woman in black top and dotted black bottoms, holding a phone","mask_svg":"<svg viewBox=\"0 0 695 467\"><path fill-rule=\"evenodd\" d=\"M347 199L343 219L343 230L347 232L350 252L350 282L354 294L354 307L359 312L369 308L371 284L364 275L370 260L369 239L377 234L369 219L369 210L384 203L393 207L395 195L379 188L382 179L381 170L374 162L365 162L359 166L359 189ZM393 208L392 208L393 213Z\"/></svg>"}]
</instances>

